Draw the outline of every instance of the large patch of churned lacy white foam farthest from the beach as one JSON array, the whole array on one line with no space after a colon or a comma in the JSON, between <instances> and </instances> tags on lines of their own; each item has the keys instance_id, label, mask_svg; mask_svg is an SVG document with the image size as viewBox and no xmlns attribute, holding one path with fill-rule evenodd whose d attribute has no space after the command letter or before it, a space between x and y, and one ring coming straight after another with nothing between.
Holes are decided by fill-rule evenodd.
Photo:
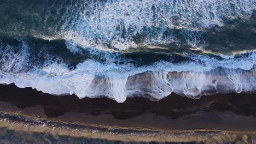
<instances>
[{"instance_id":1,"label":"large patch of churned lacy white foam farthest from the beach","mask_svg":"<svg viewBox=\"0 0 256 144\"><path fill-rule=\"evenodd\" d=\"M254 0L79 1L62 18L66 23L59 35L84 47L126 50L137 46L137 34L146 45L178 42L171 30L177 28L191 46L202 48L203 29L223 26L224 17L248 18L254 9Z\"/></svg>"}]
</instances>

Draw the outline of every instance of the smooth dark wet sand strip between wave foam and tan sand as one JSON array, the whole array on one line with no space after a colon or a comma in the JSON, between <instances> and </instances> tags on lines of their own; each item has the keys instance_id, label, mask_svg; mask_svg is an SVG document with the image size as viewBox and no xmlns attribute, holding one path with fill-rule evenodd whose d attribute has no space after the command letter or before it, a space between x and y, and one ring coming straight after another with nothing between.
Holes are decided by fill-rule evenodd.
<instances>
[{"instance_id":1,"label":"smooth dark wet sand strip between wave foam and tan sand","mask_svg":"<svg viewBox=\"0 0 256 144\"><path fill-rule=\"evenodd\" d=\"M128 98L56 97L31 88L0 85L0 109L61 121L156 129L220 129L255 131L255 94L216 94L190 99L171 94L160 101Z\"/></svg>"}]
</instances>

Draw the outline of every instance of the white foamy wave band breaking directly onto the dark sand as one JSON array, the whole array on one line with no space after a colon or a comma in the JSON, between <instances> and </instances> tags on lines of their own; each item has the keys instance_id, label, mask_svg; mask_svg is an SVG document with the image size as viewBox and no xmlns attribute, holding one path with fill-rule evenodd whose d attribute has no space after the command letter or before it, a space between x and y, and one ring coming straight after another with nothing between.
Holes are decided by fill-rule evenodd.
<instances>
[{"instance_id":1,"label":"white foamy wave band breaking directly onto the dark sand","mask_svg":"<svg viewBox=\"0 0 256 144\"><path fill-rule=\"evenodd\" d=\"M18 53L11 52L13 49L9 48L1 49L6 58L1 59L0 83L14 82L21 88L32 87L54 95L109 97L119 103L133 96L159 100L175 92L198 98L201 94L214 92L252 92L256 87L255 51L222 60L203 55L188 56L193 61L177 64L160 61L142 67L136 67L129 61L115 63L110 61L113 55L107 53L104 56L109 61L105 63L88 59L70 70L66 64L50 59L40 67L30 67L27 49L25 43ZM121 61L121 58L117 59Z\"/></svg>"}]
</instances>

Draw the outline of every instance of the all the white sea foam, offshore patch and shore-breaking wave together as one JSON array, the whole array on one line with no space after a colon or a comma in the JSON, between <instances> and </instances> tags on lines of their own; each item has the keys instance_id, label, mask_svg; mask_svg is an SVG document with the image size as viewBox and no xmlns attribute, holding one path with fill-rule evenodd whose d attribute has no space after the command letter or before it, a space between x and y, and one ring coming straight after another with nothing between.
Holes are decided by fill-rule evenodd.
<instances>
[{"instance_id":1,"label":"all the white sea foam, offshore patch and shore-breaking wave together","mask_svg":"<svg viewBox=\"0 0 256 144\"><path fill-rule=\"evenodd\" d=\"M201 94L255 91L255 51L241 57L222 55L221 60L187 55L191 61L159 61L141 67L123 58L123 53L115 52L136 47L133 37L137 34L146 35L141 42L145 45L177 41L175 34L165 37L165 32L171 33L172 28L182 28L187 42L200 48L202 29L222 26L223 17L248 18L255 9L254 0L113 0L72 4L56 38L66 39L71 52L81 52L78 47L83 47L91 57L104 62L88 59L69 69L67 64L47 56L44 64L35 64L31 62L30 47L20 40L19 47L7 45L0 51L0 83L14 82L21 88L32 87L54 95L108 97L119 103L133 96L159 100L172 92L198 98Z\"/></svg>"}]
</instances>

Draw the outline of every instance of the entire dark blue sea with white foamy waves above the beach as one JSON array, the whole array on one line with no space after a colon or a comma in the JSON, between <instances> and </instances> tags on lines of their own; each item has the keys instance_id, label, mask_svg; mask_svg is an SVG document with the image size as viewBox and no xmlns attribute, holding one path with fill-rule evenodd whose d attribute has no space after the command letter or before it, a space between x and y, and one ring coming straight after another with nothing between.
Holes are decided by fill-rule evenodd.
<instances>
[{"instance_id":1,"label":"entire dark blue sea with white foamy waves above the beach","mask_svg":"<svg viewBox=\"0 0 256 144\"><path fill-rule=\"evenodd\" d=\"M0 83L119 103L255 92L255 1L21 2L0 5Z\"/></svg>"}]
</instances>

